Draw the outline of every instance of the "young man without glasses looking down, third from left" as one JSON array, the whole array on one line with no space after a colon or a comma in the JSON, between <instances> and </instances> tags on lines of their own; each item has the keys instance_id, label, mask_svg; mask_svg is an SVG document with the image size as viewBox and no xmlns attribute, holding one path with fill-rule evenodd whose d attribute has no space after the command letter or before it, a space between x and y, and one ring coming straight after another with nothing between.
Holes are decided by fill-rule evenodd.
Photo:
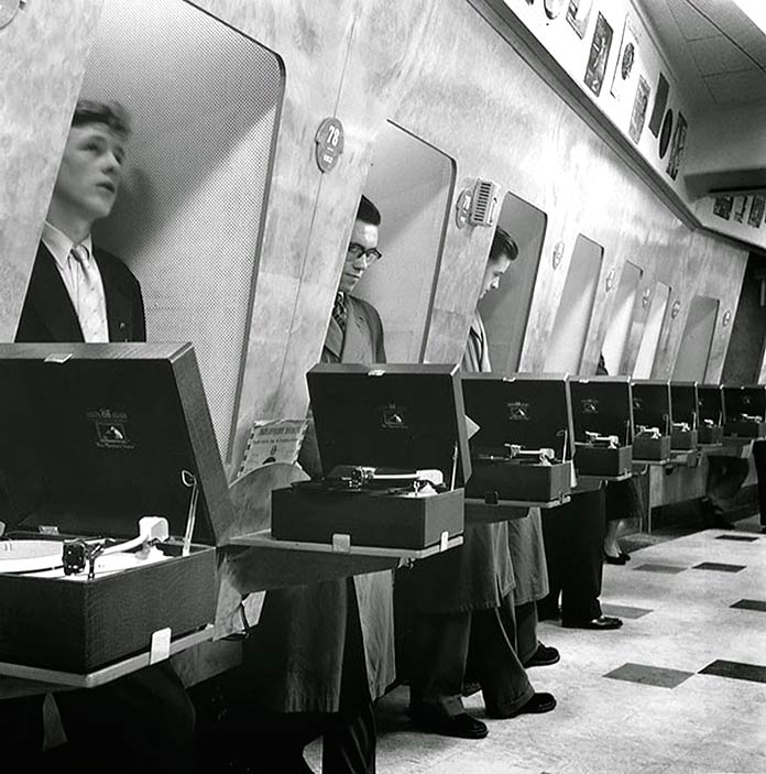
<instances>
[{"instance_id":1,"label":"young man without glasses looking down, third from left","mask_svg":"<svg viewBox=\"0 0 766 774\"><path fill-rule=\"evenodd\" d=\"M499 286L517 253L516 243L499 228L480 298ZM461 368L492 370L478 312ZM402 600L413 611L409 712L417 726L447 737L486 737L485 723L462 704L467 675L481 686L491 718L556 707L550 694L535 693L516 653L516 581L505 522L467 524L462 546L416 563L403 571L402 582Z\"/></svg>"}]
</instances>

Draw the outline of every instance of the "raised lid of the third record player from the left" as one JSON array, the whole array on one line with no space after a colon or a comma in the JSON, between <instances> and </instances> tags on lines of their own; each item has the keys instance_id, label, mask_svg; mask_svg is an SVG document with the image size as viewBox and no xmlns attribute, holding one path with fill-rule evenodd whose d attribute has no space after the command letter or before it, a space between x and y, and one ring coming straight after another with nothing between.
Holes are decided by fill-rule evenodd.
<instances>
[{"instance_id":1,"label":"raised lid of the third record player from the left","mask_svg":"<svg viewBox=\"0 0 766 774\"><path fill-rule=\"evenodd\" d=\"M518 444L527 449L551 448L571 459L572 410L565 373L463 373L466 413L480 429L472 449Z\"/></svg>"}]
</instances>

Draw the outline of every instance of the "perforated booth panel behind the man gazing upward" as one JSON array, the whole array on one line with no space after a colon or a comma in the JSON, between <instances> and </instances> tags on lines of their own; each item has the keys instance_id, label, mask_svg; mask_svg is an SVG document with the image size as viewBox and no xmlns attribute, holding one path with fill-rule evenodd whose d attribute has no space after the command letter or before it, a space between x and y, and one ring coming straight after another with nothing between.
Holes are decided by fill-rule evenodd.
<instances>
[{"instance_id":1,"label":"perforated booth panel behind the man gazing upward","mask_svg":"<svg viewBox=\"0 0 766 774\"><path fill-rule=\"evenodd\" d=\"M273 53L183 0L108 0L83 85L133 118L96 241L141 281L149 340L195 345L225 456L282 86Z\"/></svg>"}]
</instances>

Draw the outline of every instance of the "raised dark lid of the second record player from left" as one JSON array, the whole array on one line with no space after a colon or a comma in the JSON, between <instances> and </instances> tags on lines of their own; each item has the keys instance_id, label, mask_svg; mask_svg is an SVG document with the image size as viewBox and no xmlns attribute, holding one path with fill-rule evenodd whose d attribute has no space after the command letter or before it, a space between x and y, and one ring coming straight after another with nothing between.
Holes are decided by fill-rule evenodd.
<instances>
[{"instance_id":1,"label":"raised dark lid of the second record player from left","mask_svg":"<svg viewBox=\"0 0 766 774\"><path fill-rule=\"evenodd\" d=\"M307 374L325 476L339 465L471 475L457 366L320 363Z\"/></svg>"}]
</instances>

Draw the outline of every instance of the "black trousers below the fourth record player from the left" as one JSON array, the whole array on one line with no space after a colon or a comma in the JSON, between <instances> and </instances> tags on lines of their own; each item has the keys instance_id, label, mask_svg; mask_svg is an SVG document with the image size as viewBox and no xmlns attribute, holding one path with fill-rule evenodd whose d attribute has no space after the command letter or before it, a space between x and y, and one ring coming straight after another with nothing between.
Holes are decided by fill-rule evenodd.
<instances>
[{"instance_id":1,"label":"black trousers below the fourth record player from the left","mask_svg":"<svg viewBox=\"0 0 766 774\"><path fill-rule=\"evenodd\" d=\"M537 602L540 618L590 621L601 615L604 490L574 494L571 502L543 513L550 592Z\"/></svg>"}]
</instances>

